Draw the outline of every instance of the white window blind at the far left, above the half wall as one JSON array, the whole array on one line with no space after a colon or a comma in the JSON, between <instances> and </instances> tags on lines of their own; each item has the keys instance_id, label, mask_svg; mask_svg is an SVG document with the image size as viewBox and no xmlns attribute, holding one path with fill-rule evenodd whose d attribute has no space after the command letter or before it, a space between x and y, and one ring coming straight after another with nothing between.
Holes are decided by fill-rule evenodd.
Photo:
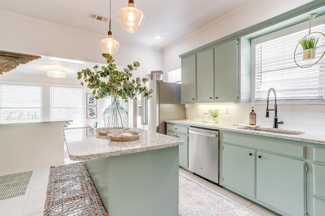
<instances>
[{"instance_id":1,"label":"white window blind at the far left, above the half wall","mask_svg":"<svg viewBox=\"0 0 325 216\"><path fill-rule=\"evenodd\" d=\"M0 84L0 123L37 122L41 116L41 86Z\"/></svg>"}]
</instances>

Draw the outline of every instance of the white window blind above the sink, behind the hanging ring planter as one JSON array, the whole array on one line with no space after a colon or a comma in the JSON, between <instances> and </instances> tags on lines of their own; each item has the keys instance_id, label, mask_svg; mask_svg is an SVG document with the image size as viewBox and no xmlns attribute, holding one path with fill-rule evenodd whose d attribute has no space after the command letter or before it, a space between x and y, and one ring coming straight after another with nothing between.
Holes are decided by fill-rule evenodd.
<instances>
[{"instance_id":1,"label":"white window blind above the sink, behind the hanging ring planter","mask_svg":"<svg viewBox=\"0 0 325 216\"><path fill-rule=\"evenodd\" d=\"M324 33L325 24L311 28L311 32L316 31ZM308 33L307 27L285 35L281 31L273 32L252 40L255 51L255 102L265 101L270 88L276 90L278 101L324 101L325 58L308 68L301 68L294 61L297 44ZM320 36L317 47L324 45L324 37ZM322 53L323 49L316 49L315 59L319 59ZM299 57L296 54L296 60L298 58L302 55Z\"/></svg>"}]
</instances>

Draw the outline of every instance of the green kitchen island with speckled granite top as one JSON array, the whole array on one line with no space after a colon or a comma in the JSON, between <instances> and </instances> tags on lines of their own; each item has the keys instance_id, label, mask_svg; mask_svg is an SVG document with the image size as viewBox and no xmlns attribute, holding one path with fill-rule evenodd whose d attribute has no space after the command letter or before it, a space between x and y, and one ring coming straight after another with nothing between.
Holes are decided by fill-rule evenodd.
<instances>
[{"instance_id":1,"label":"green kitchen island with speckled granite top","mask_svg":"<svg viewBox=\"0 0 325 216\"><path fill-rule=\"evenodd\" d=\"M111 216L178 215L179 138L142 133L135 141L85 137L70 142L72 160L85 160L90 177Z\"/></svg>"}]
</instances>

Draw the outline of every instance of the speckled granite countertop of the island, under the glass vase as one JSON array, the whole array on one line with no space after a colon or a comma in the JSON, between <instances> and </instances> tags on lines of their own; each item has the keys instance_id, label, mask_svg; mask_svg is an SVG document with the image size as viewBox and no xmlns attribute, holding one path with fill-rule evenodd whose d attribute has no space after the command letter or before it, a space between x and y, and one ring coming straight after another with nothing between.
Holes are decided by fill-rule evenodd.
<instances>
[{"instance_id":1,"label":"speckled granite countertop of the island, under the glass vase","mask_svg":"<svg viewBox=\"0 0 325 216\"><path fill-rule=\"evenodd\" d=\"M66 135L69 157L71 160L89 160L169 148L183 144L183 140L180 138L148 132L139 128L133 129L142 133L140 138L124 142L99 139L96 136L86 136L82 142L69 142L69 135Z\"/></svg>"}]
</instances>

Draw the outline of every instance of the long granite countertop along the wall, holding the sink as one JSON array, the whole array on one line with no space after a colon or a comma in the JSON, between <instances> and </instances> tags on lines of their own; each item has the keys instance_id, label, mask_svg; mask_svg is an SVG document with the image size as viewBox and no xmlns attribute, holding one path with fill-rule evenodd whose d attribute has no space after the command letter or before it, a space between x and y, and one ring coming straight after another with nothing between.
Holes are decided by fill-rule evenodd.
<instances>
[{"instance_id":1,"label":"long granite countertop along the wall, holding the sink","mask_svg":"<svg viewBox=\"0 0 325 216\"><path fill-rule=\"evenodd\" d=\"M198 126L198 127L205 127L211 129L219 129L220 131L231 131L231 132L238 132L244 134L253 134L253 135L260 135L265 137L275 137L280 139L286 140L294 140L294 141L301 141L301 142L308 142L308 143L315 143L325 145L325 133L315 133L310 131L297 131L292 130L294 132L303 132L301 135L286 135L286 134L276 134L276 133L269 133L269 132L261 132L261 131L250 131L247 129L241 129L242 125L236 124L226 124L226 123L208 123L208 122L200 122L200 121L193 121L193 120L166 120L168 123L175 123L175 124L184 124L189 126ZM265 127L263 127L265 128ZM286 129L283 129L286 130ZM281 129L279 128L279 131Z\"/></svg>"}]
</instances>

